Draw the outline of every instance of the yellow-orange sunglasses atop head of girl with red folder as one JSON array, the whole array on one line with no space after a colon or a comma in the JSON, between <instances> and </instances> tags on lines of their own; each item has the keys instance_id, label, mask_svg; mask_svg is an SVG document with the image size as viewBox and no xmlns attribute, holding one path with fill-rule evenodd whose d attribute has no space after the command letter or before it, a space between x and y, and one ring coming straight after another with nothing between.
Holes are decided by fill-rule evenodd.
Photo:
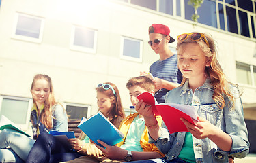
<instances>
[{"instance_id":1,"label":"yellow-orange sunglasses atop head of girl with red folder","mask_svg":"<svg viewBox=\"0 0 256 163\"><path fill-rule=\"evenodd\" d=\"M191 41L199 41L203 38L204 42L207 44L208 48L210 48L208 40L206 39L206 37L203 33L183 33L182 35L177 36L178 41L184 41L188 38Z\"/></svg>"}]
</instances>

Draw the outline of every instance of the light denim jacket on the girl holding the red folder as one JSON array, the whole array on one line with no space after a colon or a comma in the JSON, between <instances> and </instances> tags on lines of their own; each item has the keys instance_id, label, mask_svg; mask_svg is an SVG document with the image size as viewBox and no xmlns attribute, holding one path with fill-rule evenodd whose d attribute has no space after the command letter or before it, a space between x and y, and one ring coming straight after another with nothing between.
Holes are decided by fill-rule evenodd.
<instances>
[{"instance_id":1,"label":"light denim jacket on the girl holding the red folder","mask_svg":"<svg viewBox=\"0 0 256 163\"><path fill-rule=\"evenodd\" d=\"M244 158L248 154L249 142L248 132L243 117L242 101L238 88L231 86L231 92L235 97L235 108L230 109L225 105L220 109L212 99L214 90L210 85L210 79L206 79L203 86L192 90L188 87L188 81L183 86L175 88L167 93L165 103L177 103L193 105L197 109L197 114L205 118L232 139L232 147L229 152L222 151L210 139L196 139L193 137L193 149L196 162L214 163L228 162L228 155L236 158ZM225 98L225 104L229 98ZM154 143L162 153L165 153L167 160L177 158L182 149L186 132L176 132L169 134L165 124L160 128L160 137L154 141L150 137L150 143Z\"/></svg>"}]
</instances>

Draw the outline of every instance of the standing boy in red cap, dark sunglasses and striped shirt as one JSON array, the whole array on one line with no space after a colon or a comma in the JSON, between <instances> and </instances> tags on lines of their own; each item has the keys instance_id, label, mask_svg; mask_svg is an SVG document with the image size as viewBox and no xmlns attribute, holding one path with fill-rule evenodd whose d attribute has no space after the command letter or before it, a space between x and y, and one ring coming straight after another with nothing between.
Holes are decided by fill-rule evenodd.
<instances>
[{"instance_id":1,"label":"standing boy in red cap, dark sunglasses and striped shirt","mask_svg":"<svg viewBox=\"0 0 256 163\"><path fill-rule=\"evenodd\" d=\"M165 102L165 94L176 88L182 82L182 73L177 69L177 54L169 49L169 44L175 41L170 36L170 29L163 24L152 24L149 28L150 47L160 58L150 66L155 83L155 98L158 103ZM141 72L144 75L146 72Z\"/></svg>"}]
</instances>

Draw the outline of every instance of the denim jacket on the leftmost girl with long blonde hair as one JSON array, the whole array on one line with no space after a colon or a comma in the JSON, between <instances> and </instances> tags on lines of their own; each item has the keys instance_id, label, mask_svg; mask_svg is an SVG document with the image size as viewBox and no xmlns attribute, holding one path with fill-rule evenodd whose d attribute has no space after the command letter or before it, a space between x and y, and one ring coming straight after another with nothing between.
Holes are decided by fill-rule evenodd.
<instances>
[{"instance_id":1,"label":"denim jacket on the leftmost girl with long blonde hair","mask_svg":"<svg viewBox=\"0 0 256 163\"><path fill-rule=\"evenodd\" d=\"M31 111L31 123L33 128L33 139L37 139L38 134L42 132L49 132L50 129L46 128L40 120L38 120L38 113L35 109L35 105ZM59 104L53 105L53 115L52 115L53 128L51 130L59 130L62 132L68 131L68 116L63 107ZM38 132L39 130L39 132Z\"/></svg>"}]
</instances>

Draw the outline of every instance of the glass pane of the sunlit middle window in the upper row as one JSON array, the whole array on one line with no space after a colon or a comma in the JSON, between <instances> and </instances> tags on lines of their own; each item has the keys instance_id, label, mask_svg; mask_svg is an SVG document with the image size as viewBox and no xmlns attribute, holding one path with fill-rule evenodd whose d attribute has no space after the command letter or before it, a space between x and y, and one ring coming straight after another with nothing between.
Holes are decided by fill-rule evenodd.
<instances>
[{"instance_id":1,"label":"glass pane of the sunlit middle window in the upper row","mask_svg":"<svg viewBox=\"0 0 256 163\"><path fill-rule=\"evenodd\" d=\"M74 45L94 48L94 32L91 29L76 27L74 32Z\"/></svg>"}]
</instances>

